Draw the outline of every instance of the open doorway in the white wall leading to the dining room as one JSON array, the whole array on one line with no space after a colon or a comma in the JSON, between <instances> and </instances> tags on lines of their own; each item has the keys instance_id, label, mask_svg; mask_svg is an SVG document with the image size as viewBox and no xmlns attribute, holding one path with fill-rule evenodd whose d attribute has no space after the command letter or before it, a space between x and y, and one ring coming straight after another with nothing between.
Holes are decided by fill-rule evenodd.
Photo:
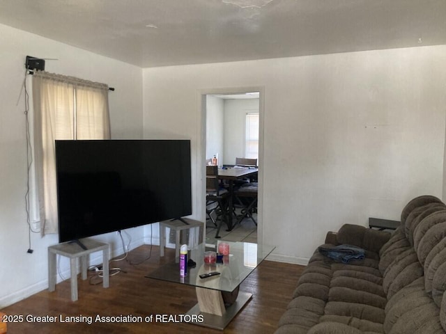
<instances>
[{"instance_id":1,"label":"open doorway in the white wall leading to the dining room","mask_svg":"<svg viewBox=\"0 0 446 334\"><path fill-rule=\"evenodd\" d=\"M228 93L229 92L229 93ZM226 90L219 92L206 92L201 95L203 111L203 161L202 166L217 164L221 168L234 168L236 158L256 159L259 173L254 178L238 180L237 186L244 182L252 182L258 186L259 193L256 207L253 210L253 218L245 217L240 223L234 225L233 230L226 231L226 224L222 225L220 237L229 241L257 242L261 240L261 170L262 164L262 135L263 122L263 93L259 88L246 90ZM203 168L206 169L206 168ZM206 172L203 171L203 180L206 180ZM206 184L206 182L204 182ZM227 186L227 184L226 184ZM206 186L203 186L206 188ZM203 190L206 197L206 189ZM233 202L236 198L233 197ZM206 202L205 202L206 203ZM238 203L237 203L238 204ZM206 207L206 205L205 205ZM208 215L206 207L206 237L212 242L216 234L216 226ZM236 206L235 214L240 216L241 208ZM215 212L211 215L215 216ZM233 223L238 219L233 216ZM255 225L254 221L257 223ZM220 223L217 221L217 224Z\"/></svg>"}]
</instances>

